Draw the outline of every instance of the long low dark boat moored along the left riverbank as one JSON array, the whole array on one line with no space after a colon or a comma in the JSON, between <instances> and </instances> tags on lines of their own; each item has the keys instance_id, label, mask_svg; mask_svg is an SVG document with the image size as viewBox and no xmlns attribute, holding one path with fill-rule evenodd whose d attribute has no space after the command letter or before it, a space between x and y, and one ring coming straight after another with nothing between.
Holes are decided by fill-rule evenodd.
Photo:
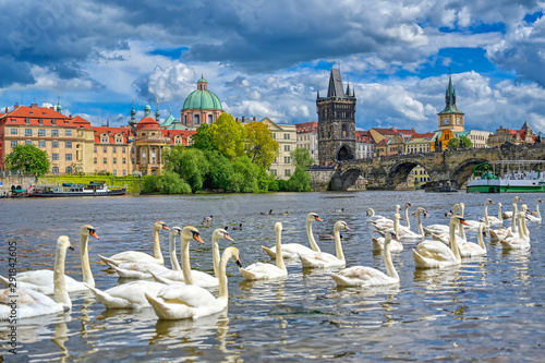
<instances>
[{"instance_id":1,"label":"long low dark boat moored along the left riverbank","mask_svg":"<svg viewBox=\"0 0 545 363\"><path fill-rule=\"evenodd\" d=\"M73 197L73 196L113 196L125 195L125 187L110 190L105 182L88 184L64 183L62 186L35 186L31 193L33 197Z\"/></svg>"}]
</instances>

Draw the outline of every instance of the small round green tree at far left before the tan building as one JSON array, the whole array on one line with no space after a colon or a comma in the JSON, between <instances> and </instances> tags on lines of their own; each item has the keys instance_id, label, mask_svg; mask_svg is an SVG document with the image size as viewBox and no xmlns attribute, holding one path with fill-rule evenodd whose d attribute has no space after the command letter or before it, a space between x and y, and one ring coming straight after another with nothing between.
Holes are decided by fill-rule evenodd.
<instances>
[{"instance_id":1,"label":"small round green tree at far left before the tan building","mask_svg":"<svg viewBox=\"0 0 545 363\"><path fill-rule=\"evenodd\" d=\"M47 153L34 145L17 145L5 156L5 170L21 170L27 174L41 177L49 172Z\"/></svg>"}]
</instances>

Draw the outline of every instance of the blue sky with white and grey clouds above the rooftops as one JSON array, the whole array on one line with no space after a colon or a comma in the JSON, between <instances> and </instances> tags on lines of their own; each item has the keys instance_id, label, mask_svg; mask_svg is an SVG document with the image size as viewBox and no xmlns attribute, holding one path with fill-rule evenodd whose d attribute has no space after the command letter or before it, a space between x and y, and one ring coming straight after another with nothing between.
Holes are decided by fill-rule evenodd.
<instances>
[{"instance_id":1,"label":"blue sky with white and grey clouds above the rooftops","mask_svg":"<svg viewBox=\"0 0 545 363\"><path fill-rule=\"evenodd\" d=\"M437 130L449 72L465 129L545 132L545 0L0 0L0 107L125 125L180 118L204 75L233 117L317 121L331 66L356 129ZM332 65L331 65L332 64ZM340 65L339 65L340 64Z\"/></svg>"}]
</instances>

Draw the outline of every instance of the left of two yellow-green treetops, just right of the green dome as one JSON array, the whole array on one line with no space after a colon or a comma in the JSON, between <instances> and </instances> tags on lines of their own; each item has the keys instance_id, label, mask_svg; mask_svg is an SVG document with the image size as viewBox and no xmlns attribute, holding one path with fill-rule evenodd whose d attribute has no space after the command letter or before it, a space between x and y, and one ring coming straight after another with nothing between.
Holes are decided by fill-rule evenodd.
<instances>
[{"instance_id":1,"label":"left of two yellow-green treetops, just right of the green dome","mask_svg":"<svg viewBox=\"0 0 545 363\"><path fill-rule=\"evenodd\" d=\"M229 159L244 154L245 130L231 114L221 113L209 130L211 144Z\"/></svg>"}]
</instances>

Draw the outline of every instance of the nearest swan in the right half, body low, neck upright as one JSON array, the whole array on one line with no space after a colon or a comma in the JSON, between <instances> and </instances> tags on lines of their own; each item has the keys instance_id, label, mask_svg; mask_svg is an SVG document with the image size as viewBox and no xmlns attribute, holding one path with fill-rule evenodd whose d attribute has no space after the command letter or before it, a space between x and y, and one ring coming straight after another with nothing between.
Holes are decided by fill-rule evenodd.
<instances>
[{"instance_id":1,"label":"nearest swan in the right half, body low, neck upright","mask_svg":"<svg viewBox=\"0 0 545 363\"><path fill-rule=\"evenodd\" d=\"M330 274L337 286L352 287L373 287L384 286L399 282L399 275L393 267L390 254L390 242L397 237L392 232L386 233L384 249L384 264L386 265L386 274L373 267L353 266L344 268L337 274Z\"/></svg>"}]
</instances>

